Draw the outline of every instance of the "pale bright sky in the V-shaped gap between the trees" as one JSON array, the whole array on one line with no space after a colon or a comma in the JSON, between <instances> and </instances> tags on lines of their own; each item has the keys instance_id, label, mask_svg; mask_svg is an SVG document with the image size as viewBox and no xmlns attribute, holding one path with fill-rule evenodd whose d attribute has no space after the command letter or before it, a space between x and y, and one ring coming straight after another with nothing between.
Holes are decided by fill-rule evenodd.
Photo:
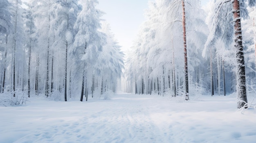
<instances>
[{"instance_id":1,"label":"pale bright sky in the V-shaped gap between the trees","mask_svg":"<svg viewBox=\"0 0 256 143\"><path fill-rule=\"evenodd\" d=\"M140 25L146 20L144 10L149 0L99 0L98 9L105 12L105 19L111 26L115 39L126 52L132 46ZM154 0L151 0L154 1ZM201 0L202 6L209 0Z\"/></svg>"}]
</instances>

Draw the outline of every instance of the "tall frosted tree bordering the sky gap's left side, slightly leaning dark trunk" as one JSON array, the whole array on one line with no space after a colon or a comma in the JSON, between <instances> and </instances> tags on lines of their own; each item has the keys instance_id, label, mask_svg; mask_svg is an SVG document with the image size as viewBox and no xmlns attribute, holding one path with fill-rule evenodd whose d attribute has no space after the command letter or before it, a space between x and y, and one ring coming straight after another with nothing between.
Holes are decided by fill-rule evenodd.
<instances>
[{"instance_id":1,"label":"tall frosted tree bordering the sky gap's left side, slightly leaning dark trunk","mask_svg":"<svg viewBox=\"0 0 256 143\"><path fill-rule=\"evenodd\" d=\"M92 75L93 66L97 62L97 57L102 51L102 33L98 31L101 27L100 17L103 14L95 8L97 0L83 0L82 11L77 16L74 30L77 31L74 37L72 52L76 57L76 64L82 71L82 89L80 101L83 101L84 90L88 91L88 76ZM85 86L85 87L84 87ZM88 98L88 96L86 96ZM86 99L87 100L87 99Z\"/></svg>"}]
</instances>

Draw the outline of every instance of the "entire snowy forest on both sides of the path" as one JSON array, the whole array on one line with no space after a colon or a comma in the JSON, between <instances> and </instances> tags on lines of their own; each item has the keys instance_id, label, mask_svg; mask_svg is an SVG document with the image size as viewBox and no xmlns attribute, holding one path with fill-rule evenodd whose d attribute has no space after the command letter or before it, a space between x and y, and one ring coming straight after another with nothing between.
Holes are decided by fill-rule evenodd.
<instances>
[{"instance_id":1,"label":"entire snowy forest on both sides of the path","mask_svg":"<svg viewBox=\"0 0 256 143\"><path fill-rule=\"evenodd\" d=\"M125 54L97 4L1 0L0 92L55 101L236 92L238 108L255 92L255 0L212 0L207 9L200 0L150 1Z\"/></svg>"}]
</instances>

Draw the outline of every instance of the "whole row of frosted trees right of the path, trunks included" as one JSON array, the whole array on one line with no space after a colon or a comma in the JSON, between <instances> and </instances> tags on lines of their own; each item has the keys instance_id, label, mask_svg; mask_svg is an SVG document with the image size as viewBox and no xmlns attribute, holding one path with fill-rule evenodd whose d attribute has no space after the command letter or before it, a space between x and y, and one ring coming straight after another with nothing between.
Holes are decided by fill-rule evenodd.
<instances>
[{"instance_id":1,"label":"whole row of frosted trees right of the path, trunks included","mask_svg":"<svg viewBox=\"0 0 256 143\"><path fill-rule=\"evenodd\" d=\"M124 90L186 100L237 92L238 108L246 107L246 91L255 91L255 3L212 0L207 15L200 0L149 2L126 62Z\"/></svg>"}]
</instances>

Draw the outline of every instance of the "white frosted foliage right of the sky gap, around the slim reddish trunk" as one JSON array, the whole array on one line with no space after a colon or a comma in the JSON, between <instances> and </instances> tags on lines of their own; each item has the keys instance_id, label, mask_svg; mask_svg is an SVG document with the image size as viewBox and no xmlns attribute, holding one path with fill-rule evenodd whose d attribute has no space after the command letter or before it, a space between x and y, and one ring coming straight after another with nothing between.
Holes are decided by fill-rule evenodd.
<instances>
[{"instance_id":1,"label":"white frosted foliage right of the sky gap, around the slim reddish trunk","mask_svg":"<svg viewBox=\"0 0 256 143\"><path fill-rule=\"evenodd\" d=\"M208 28L200 1L186 0L186 31L189 76L204 84L206 60L201 60ZM184 50L180 0L156 0L149 3L144 22L127 59L128 92L164 95L183 88ZM202 77L202 78L201 78Z\"/></svg>"}]
</instances>

